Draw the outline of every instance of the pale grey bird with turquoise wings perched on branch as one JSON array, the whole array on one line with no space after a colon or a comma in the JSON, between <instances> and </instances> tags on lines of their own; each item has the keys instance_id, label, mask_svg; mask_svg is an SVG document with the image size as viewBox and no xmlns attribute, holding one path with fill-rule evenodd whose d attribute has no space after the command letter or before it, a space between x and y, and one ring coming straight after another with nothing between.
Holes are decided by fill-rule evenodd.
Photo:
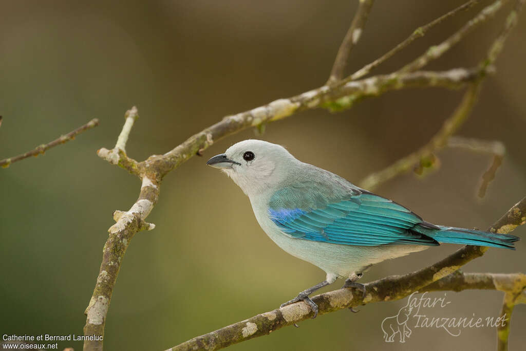
<instances>
[{"instance_id":1,"label":"pale grey bird with turquoise wings perched on branch","mask_svg":"<svg viewBox=\"0 0 526 351\"><path fill-rule=\"evenodd\" d=\"M431 224L407 207L261 140L238 142L206 164L234 180L250 199L263 231L280 248L325 271L323 282L280 306L304 301L312 318L318 306L310 294L342 278L343 287L359 289L365 297L365 285L356 281L383 260L440 243L514 249L519 240L509 234Z\"/></svg>"}]
</instances>

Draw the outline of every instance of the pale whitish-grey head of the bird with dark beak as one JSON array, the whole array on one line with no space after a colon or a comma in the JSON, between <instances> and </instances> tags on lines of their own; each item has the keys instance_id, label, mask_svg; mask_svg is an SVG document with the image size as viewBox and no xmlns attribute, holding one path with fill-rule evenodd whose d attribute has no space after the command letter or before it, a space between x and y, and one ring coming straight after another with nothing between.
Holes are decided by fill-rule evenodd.
<instances>
[{"instance_id":1,"label":"pale whitish-grey head of the bird with dark beak","mask_svg":"<svg viewBox=\"0 0 526 351\"><path fill-rule=\"evenodd\" d=\"M206 164L220 168L250 196L282 182L296 163L297 159L283 146L248 139L230 146Z\"/></svg>"}]
</instances>

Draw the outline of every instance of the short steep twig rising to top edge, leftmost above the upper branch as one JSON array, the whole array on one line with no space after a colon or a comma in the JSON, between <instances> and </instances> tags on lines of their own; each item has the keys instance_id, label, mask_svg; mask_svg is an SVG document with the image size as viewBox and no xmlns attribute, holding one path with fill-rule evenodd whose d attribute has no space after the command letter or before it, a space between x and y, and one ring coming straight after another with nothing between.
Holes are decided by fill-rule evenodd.
<instances>
[{"instance_id":1,"label":"short steep twig rising to top edge, leftmost above the upper branch","mask_svg":"<svg viewBox=\"0 0 526 351\"><path fill-rule=\"evenodd\" d=\"M338 53L336 54L336 59L332 65L327 85L338 82L343 77L349 54L360 39L374 2L374 0L360 0L358 3L355 17L352 19L351 26L343 38Z\"/></svg>"}]
</instances>

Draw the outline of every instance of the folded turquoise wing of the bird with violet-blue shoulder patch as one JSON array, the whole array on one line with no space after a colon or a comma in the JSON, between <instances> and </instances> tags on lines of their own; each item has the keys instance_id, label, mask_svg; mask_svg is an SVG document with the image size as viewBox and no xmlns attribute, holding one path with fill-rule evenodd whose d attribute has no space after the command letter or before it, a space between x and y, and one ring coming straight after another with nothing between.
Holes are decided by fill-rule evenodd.
<instances>
[{"instance_id":1,"label":"folded turquoise wing of the bird with violet-blue shoulder patch","mask_svg":"<svg viewBox=\"0 0 526 351\"><path fill-rule=\"evenodd\" d=\"M338 196L335 192L326 196L326 188L296 185L280 189L270 199L270 218L284 234L317 242L439 245L411 230L423 221L406 207L357 187Z\"/></svg>"}]
</instances>

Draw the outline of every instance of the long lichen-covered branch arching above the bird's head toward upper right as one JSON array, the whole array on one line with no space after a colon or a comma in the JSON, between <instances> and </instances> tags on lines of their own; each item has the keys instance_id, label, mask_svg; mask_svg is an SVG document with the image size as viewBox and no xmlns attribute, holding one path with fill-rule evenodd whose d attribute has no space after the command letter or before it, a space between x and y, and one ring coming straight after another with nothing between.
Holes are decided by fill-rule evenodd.
<instances>
[{"instance_id":1,"label":"long lichen-covered branch arching above the bird's head toward upper right","mask_svg":"<svg viewBox=\"0 0 526 351\"><path fill-rule=\"evenodd\" d=\"M164 155L149 157L146 168L156 169L161 177L204 151L218 139L248 127L278 121L306 109L325 107L339 111L351 107L353 102L366 96L378 96L388 91L411 87L458 88L468 82L477 81L482 71L478 68L456 68L444 72L418 71L407 74L392 73L377 75L343 86L324 85L290 98L278 99L267 105L253 108L236 115L226 116L222 121L199 132Z\"/></svg>"}]
</instances>

